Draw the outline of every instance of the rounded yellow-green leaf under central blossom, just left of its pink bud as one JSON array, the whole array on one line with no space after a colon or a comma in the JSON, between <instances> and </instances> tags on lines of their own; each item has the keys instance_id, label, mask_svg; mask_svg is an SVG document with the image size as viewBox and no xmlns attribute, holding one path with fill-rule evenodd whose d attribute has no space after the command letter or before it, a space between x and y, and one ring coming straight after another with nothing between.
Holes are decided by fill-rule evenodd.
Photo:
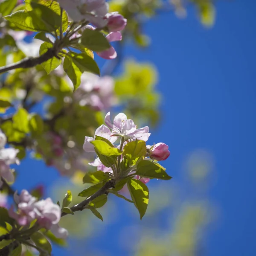
<instances>
[{"instance_id":1,"label":"rounded yellow-green leaf under central blossom, just left of its pink bud","mask_svg":"<svg viewBox=\"0 0 256 256\"><path fill-rule=\"evenodd\" d=\"M124 146L124 155L131 165L135 165L141 157L146 155L146 143L144 140L134 140Z\"/></svg>"}]
</instances>

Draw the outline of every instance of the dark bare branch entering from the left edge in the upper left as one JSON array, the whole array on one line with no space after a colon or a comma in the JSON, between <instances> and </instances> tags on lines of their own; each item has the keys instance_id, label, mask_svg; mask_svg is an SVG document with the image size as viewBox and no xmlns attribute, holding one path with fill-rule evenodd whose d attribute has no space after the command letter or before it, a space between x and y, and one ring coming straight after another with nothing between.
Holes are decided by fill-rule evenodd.
<instances>
[{"instance_id":1,"label":"dark bare branch entering from the left edge in the upper left","mask_svg":"<svg viewBox=\"0 0 256 256\"><path fill-rule=\"evenodd\" d=\"M10 71L10 70L14 70L17 68L29 68L29 67L35 67L38 64L41 64L45 61L48 61L50 58L53 58L54 56L56 56L58 53L57 49L55 47L49 48L47 50L47 52L45 52L44 54L42 54L39 57L36 58L24 58L21 61L15 62L13 64L4 66L0 68L0 74Z\"/></svg>"}]
</instances>

